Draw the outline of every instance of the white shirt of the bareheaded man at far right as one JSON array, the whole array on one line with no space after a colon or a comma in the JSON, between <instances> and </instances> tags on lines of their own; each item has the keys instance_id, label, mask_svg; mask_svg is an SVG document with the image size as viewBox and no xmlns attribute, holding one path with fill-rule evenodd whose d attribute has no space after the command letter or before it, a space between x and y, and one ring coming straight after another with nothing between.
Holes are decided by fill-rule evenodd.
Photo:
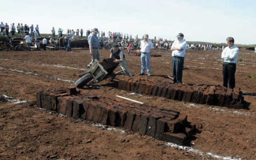
<instances>
[{"instance_id":1,"label":"white shirt of the bareheaded man at far right","mask_svg":"<svg viewBox=\"0 0 256 160\"><path fill-rule=\"evenodd\" d=\"M239 49L235 45L233 45L232 47L225 47L221 53L221 58L224 60L224 62L236 63L238 53ZM234 60L230 61L230 59Z\"/></svg>"}]
</instances>

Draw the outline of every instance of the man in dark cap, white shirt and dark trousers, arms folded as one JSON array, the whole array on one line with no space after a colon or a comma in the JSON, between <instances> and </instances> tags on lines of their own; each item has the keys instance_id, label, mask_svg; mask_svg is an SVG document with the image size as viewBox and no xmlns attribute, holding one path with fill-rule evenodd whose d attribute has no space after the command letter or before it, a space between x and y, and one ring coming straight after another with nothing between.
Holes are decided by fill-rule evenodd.
<instances>
[{"instance_id":1,"label":"man in dark cap, white shirt and dark trousers, arms folded","mask_svg":"<svg viewBox=\"0 0 256 160\"><path fill-rule=\"evenodd\" d=\"M177 35L177 40L173 42L171 47L171 51L173 51L173 83L182 83L182 70L187 48L187 42L183 40L183 38L184 35L179 33Z\"/></svg>"}]
</instances>

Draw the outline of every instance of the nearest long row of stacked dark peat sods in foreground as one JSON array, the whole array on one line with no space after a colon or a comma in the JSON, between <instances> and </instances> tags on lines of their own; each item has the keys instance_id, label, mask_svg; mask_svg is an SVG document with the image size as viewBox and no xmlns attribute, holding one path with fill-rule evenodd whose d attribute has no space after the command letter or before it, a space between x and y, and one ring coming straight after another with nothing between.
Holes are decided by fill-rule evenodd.
<instances>
[{"instance_id":1,"label":"nearest long row of stacked dark peat sods in foreground","mask_svg":"<svg viewBox=\"0 0 256 160\"><path fill-rule=\"evenodd\" d=\"M123 127L178 145L183 145L196 131L196 125L187 122L187 115L183 113L147 104L81 95L75 88L40 91L37 93L37 107L54 110L68 117Z\"/></svg>"}]
</instances>

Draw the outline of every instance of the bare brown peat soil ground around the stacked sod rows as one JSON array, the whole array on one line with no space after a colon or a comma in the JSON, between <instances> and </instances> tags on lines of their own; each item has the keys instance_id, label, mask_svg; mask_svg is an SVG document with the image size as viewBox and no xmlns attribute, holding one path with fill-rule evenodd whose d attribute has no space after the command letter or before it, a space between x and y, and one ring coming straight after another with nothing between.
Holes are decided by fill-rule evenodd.
<instances>
[{"instance_id":1,"label":"bare brown peat soil ground around the stacked sod rows","mask_svg":"<svg viewBox=\"0 0 256 160\"><path fill-rule=\"evenodd\" d=\"M141 69L139 56L127 55L128 69L138 76ZM171 52L154 51L161 57L151 57L152 76L149 79L169 80L172 76ZM101 59L110 52L100 50ZM65 51L2 51L0 52L0 96L30 101L14 104L0 101L0 159L109 159L109 160L180 160L214 159L209 155L184 151L165 145L165 142L141 136L139 133L109 131L92 122L75 120L50 111L35 108L36 93L68 87L90 62L88 50ZM256 92L256 55L241 50L237 62L236 87L243 92ZM56 65L69 66L57 67ZM73 68L71 68L73 67ZM221 52L187 51L183 82L186 84L222 85ZM4 69L3 69L4 68ZM76 68L76 69L75 69ZM80 69L79 69L80 68ZM13 69L17 69L14 71ZM115 71L121 68L117 67ZM38 74L38 75L35 75ZM124 75L119 75L124 76ZM147 77L147 76L144 76ZM219 106L184 104L157 96L130 95L112 88L110 82L100 82L101 89L83 89L82 93L117 98L131 98L166 109L186 113L189 122L202 124L201 133L195 135L191 147L204 153L256 159L256 97L244 96L250 102L249 110L228 109Z\"/></svg>"}]
</instances>

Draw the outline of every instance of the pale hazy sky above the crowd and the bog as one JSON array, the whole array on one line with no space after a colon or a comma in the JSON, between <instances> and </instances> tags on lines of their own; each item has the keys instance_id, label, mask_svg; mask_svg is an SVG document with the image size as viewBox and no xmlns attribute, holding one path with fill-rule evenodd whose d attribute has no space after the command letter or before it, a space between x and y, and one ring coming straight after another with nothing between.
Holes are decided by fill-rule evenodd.
<instances>
[{"instance_id":1,"label":"pale hazy sky above the crowd and the bog","mask_svg":"<svg viewBox=\"0 0 256 160\"><path fill-rule=\"evenodd\" d=\"M175 40L256 44L255 0L8 0L1 2L0 21L55 29L98 28L99 31L148 34Z\"/></svg>"}]
</instances>

